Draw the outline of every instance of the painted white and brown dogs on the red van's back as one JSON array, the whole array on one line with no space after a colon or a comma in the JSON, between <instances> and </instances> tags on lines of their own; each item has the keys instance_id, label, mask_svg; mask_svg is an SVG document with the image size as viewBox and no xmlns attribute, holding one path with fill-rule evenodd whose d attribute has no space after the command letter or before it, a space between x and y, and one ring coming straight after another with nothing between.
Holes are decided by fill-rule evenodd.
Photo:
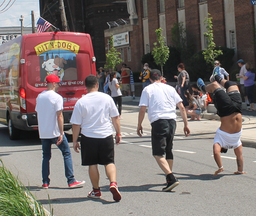
<instances>
[{"instance_id":1,"label":"painted white and brown dogs on the red van's back","mask_svg":"<svg viewBox=\"0 0 256 216\"><path fill-rule=\"evenodd\" d=\"M51 58L42 63L42 68L45 68L47 75L54 74L59 77L60 80L76 80L77 79L77 70L76 68L67 68L64 70L67 60L63 57ZM46 81L46 78L45 78Z\"/></svg>"}]
</instances>

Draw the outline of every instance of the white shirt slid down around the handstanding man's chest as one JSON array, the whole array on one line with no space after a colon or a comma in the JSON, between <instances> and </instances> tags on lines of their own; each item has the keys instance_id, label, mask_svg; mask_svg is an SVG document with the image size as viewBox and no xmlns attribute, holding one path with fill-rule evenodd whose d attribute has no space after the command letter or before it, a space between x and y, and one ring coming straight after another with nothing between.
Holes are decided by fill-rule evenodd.
<instances>
[{"instance_id":1,"label":"white shirt slid down around the handstanding man's chest","mask_svg":"<svg viewBox=\"0 0 256 216\"><path fill-rule=\"evenodd\" d=\"M242 128L239 133L228 134L224 131L221 131L219 127L214 137L214 144L219 143L222 148L226 148L226 149L237 148L242 144L240 140L241 135L242 135Z\"/></svg>"}]
</instances>

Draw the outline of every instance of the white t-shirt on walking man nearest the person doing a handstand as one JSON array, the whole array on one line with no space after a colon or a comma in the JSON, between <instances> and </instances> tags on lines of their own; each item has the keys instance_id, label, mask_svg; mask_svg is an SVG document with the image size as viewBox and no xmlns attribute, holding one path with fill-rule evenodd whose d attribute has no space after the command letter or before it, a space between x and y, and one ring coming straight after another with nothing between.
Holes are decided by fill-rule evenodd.
<instances>
[{"instance_id":1,"label":"white t-shirt on walking man nearest the person doing a handstand","mask_svg":"<svg viewBox=\"0 0 256 216\"><path fill-rule=\"evenodd\" d=\"M142 91L139 106L148 106L150 123L158 119L176 120L176 104L182 101L170 85L154 82Z\"/></svg>"}]
</instances>

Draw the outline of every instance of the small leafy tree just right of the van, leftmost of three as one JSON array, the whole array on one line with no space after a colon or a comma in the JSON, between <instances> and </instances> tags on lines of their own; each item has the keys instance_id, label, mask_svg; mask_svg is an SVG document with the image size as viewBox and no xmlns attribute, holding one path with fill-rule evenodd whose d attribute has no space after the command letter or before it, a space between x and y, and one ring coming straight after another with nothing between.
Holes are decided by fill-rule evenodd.
<instances>
[{"instance_id":1,"label":"small leafy tree just right of the van, leftmost of three","mask_svg":"<svg viewBox=\"0 0 256 216\"><path fill-rule=\"evenodd\" d=\"M114 38L113 35L111 35L110 37L110 47L111 49L109 50L108 53L106 53L106 63L104 68L106 70L110 69L110 70L114 70L114 68L117 66L117 64L120 64L122 59L119 57L119 55L121 55L121 53L117 52L117 50L114 48Z\"/></svg>"}]
</instances>

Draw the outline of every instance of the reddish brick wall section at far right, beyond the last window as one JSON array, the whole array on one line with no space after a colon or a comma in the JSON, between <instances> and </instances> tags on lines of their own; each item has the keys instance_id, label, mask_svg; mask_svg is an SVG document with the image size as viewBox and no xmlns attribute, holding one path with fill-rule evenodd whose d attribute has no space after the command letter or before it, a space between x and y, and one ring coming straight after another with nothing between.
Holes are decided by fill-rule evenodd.
<instances>
[{"instance_id":1,"label":"reddish brick wall section at far right, beyond the last window","mask_svg":"<svg viewBox=\"0 0 256 216\"><path fill-rule=\"evenodd\" d=\"M253 6L249 1L248 4L245 4L243 1L234 0L234 14L238 59L251 62L255 68L255 47L252 44L253 39L255 39L255 33L252 31L254 28Z\"/></svg>"}]
</instances>

